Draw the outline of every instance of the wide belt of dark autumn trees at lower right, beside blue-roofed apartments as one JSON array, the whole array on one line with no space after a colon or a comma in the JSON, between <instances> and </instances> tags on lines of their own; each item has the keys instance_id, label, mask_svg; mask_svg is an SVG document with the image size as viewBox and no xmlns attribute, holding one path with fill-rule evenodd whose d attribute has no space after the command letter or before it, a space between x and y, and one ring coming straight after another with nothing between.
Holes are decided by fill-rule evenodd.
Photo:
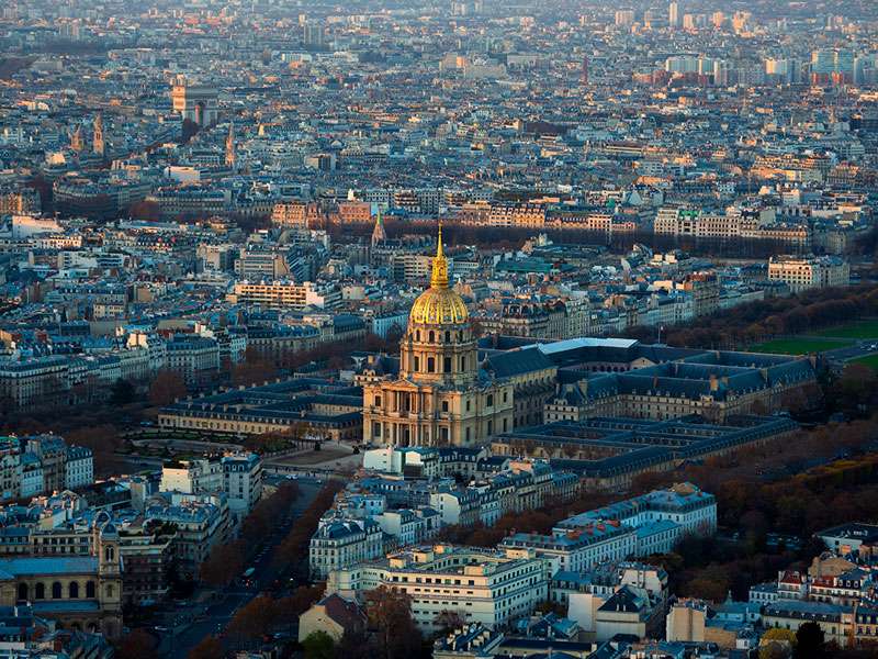
<instances>
[{"instance_id":1,"label":"wide belt of dark autumn trees at lower right, beside blue-roofed apartments","mask_svg":"<svg viewBox=\"0 0 878 659\"><path fill-rule=\"evenodd\" d=\"M653 557L674 592L721 601L746 599L754 583L778 570L804 569L823 550L821 528L878 517L878 417L800 431L793 437L646 474L637 490L690 480L717 496L720 525L736 541L689 537L672 554ZM866 453L864 453L866 451ZM854 459L849 459L855 457ZM800 538L798 550L768 547L768 533Z\"/></svg>"}]
</instances>

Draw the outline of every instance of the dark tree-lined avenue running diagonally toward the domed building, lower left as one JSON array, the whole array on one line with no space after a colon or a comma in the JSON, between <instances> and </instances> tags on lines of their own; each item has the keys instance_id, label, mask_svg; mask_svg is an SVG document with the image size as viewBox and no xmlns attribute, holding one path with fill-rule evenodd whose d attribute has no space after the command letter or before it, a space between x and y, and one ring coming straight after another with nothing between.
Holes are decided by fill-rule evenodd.
<instances>
[{"instance_id":1,"label":"dark tree-lined avenue running diagonally toward the domed building, lower left","mask_svg":"<svg viewBox=\"0 0 878 659\"><path fill-rule=\"evenodd\" d=\"M271 478L270 480L280 482L283 479ZM199 591L196 591L192 596L192 603L180 605L171 613L175 617L177 615L193 616L194 622L161 634L160 654L162 657L185 659L190 650L205 636L224 630L235 612L256 597L274 580L275 571L271 567L271 560L275 547L286 536L302 512L311 505L322 487L314 478L302 477L296 482L301 494L291 506L290 515L282 520L274 533L266 539L264 548L250 562L249 567L255 568L254 582L256 585L245 589L238 583L233 583L219 593L222 599L214 604L195 604L199 601Z\"/></svg>"}]
</instances>

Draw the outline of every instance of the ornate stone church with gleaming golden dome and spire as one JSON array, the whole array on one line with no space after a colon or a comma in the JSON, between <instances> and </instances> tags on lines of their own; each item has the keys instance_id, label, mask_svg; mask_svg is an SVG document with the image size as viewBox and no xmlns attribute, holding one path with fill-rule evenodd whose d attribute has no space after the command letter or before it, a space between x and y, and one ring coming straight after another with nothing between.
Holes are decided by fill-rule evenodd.
<instances>
[{"instance_id":1,"label":"ornate stone church with gleaming golden dome and spire","mask_svg":"<svg viewBox=\"0 0 878 659\"><path fill-rule=\"evenodd\" d=\"M449 286L442 230L430 288L408 315L399 376L363 387L363 440L394 446L477 446L513 429L513 387L480 371L470 314Z\"/></svg>"}]
</instances>

